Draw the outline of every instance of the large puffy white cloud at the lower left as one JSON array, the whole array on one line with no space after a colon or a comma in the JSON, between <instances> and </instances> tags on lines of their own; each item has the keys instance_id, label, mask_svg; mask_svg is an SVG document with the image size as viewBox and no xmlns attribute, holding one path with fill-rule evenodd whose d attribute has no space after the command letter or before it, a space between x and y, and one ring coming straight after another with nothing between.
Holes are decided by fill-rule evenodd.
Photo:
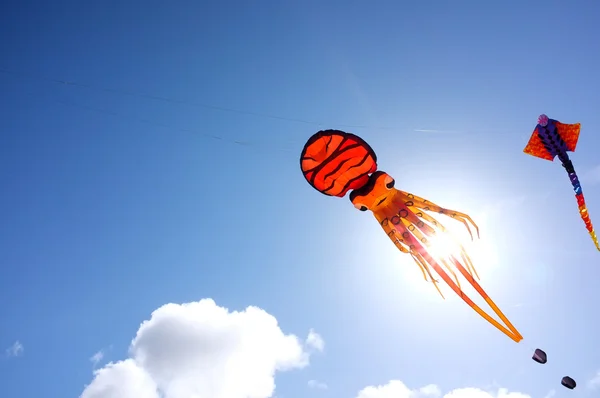
<instances>
[{"instance_id":1,"label":"large puffy white cloud at the lower left","mask_svg":"<svg viewBox=\"0 0 600 398\"><path fill-rule=\"evenodd\" d=\"M311 333L307 345L318 336ZM80 398L267 398L276 372L303 368L310 357L264 310L230 312L211 299L158 308L129 351L95 371Z\"/></svg>"}]
</instances>

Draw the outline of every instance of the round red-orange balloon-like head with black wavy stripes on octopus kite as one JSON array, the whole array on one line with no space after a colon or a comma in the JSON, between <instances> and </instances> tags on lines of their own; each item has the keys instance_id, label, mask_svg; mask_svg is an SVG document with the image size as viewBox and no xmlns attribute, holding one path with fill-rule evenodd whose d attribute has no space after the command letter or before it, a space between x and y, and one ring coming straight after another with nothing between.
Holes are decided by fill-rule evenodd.
<instances>
[{"instance_id":1,"label":"round red-orange balloon-like head with black wavy stripes on octopus kite","mask_svg":"<svg viewBox=\"0 0 600 398\"><path fill-rule=\"evenodd\" d=\"M369 182L369 174L377 170L377 155L354 134L322 130L304 145L300 169L317 191L341 198Z\"/></svg>"}]
</instances>

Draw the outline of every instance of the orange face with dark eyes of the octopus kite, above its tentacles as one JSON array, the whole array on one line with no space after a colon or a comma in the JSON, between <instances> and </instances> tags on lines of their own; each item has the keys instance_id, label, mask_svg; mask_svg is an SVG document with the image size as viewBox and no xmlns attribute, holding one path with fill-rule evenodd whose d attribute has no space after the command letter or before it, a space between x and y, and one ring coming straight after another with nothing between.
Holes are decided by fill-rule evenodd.
<instances>
[{"instance_id":1,"label":"orange face with dark eyes of the octopus kite, above its tentacles","mask_svg":"<svg viewBox=\"0 0 600 398\"><path fill-rule=\"evenodd\" d=\"M396 181L388 173L376 171L362 188L350 193L350 201L360 211L376 212L393 202Z\"/></svg>"}]
</instances>

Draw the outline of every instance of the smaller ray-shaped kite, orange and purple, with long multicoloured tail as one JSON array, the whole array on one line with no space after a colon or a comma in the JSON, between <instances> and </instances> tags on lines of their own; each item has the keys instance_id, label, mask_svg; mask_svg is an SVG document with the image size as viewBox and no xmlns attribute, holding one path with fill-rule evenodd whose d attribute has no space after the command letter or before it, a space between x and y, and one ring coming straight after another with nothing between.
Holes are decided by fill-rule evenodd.
<instances>
[{"instance_id":1,"label":"smaller ray-shaped kite, orange and purple, with long multicoloured tail","mask_svg":"<svg viewBox=\"0 0 600 398\"><path fill-rule=\"evenodd\" d=\"M558 159L562 162L562 166L569 174L571 185L573 185L573 190L575 191L579 214L585 224L585 228L588 230L594 245L596 245L596 249L600 250L600 244L598 243L596 231L594 231L592 220L590 220L590 215L588 214L579 178L577 177L577 173L575 173L573 162L571 162L567 153L567 151L575 152L580 131L581 124L579 123L564 124L558 120L548 119L546 115L540 115L538 124L535 126L535 130L523 152L551 162L558 156Z\"/></svg>"}]
</instances>

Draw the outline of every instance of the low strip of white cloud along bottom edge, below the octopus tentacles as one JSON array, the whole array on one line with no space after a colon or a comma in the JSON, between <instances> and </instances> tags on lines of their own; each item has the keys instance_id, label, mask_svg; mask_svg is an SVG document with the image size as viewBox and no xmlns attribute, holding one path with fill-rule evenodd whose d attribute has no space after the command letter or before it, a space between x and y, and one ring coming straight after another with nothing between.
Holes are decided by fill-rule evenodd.
<instances>
[{"instance_id":1,"label":"low strip of white cloud along bottom edge, below the octopus tentacles","mask_svg":"<svg viewBox=\"0 0 600 398\"><path fill-rule=\"evenodd\" d=\"M362 389L356 398L439 398L442 391L438 386L429 384L418 389L410 389L400 380L391 380L381 386L369 386ZM504 388L488 392L479 388L457 388L443 395L443 398L531 398L520 392L508 392Z\"/></svg>"}]
</instances>

